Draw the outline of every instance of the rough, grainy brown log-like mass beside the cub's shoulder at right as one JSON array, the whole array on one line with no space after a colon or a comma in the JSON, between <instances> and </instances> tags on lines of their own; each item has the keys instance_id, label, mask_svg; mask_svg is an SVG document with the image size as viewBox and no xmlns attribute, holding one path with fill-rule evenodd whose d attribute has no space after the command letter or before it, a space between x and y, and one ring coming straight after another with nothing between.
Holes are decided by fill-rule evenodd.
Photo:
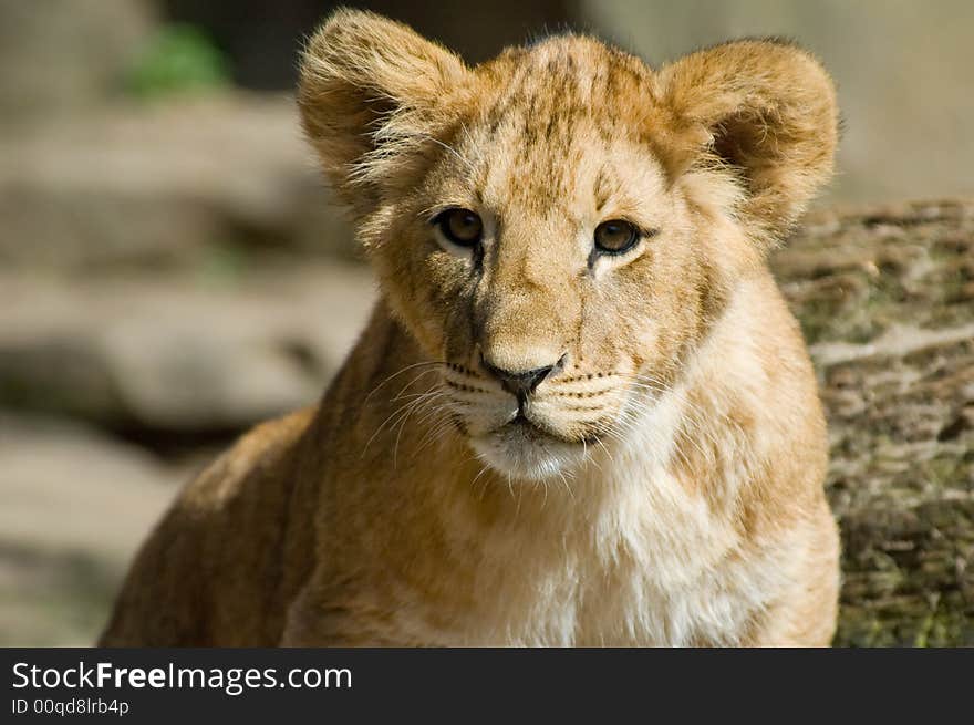
<instances>
[{"instance_id":1,"label":"rough, grainy brown log-like mass beside the cub's shoulder at right","mask_svg":"<svg viewBox=\"0 0 974 725\"><path fill-rule=\"evenodd\" d=\"M974 645L974 203L820 214L774 267L829 420L836 643Z\"/></svg>"}]
</instances>

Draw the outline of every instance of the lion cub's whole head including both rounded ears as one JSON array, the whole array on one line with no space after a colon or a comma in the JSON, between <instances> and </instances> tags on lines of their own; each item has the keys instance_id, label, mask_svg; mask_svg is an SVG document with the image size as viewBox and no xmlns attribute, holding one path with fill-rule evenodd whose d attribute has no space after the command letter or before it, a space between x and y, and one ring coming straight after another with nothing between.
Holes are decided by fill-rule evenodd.
<instances>
[{"instance_id":1,"label":"lion cub's whole head including both rounded ears","mask_svg":"<svg viewBox=\"0 0 974 725\"><path fill-rule=\"evenodd\" d=\"M801 50L653 70L578 35L467 68L339 11L303 56L308 136L477 454L545 478L624 435L831 172Z\"/></svg>"}]
</instances>

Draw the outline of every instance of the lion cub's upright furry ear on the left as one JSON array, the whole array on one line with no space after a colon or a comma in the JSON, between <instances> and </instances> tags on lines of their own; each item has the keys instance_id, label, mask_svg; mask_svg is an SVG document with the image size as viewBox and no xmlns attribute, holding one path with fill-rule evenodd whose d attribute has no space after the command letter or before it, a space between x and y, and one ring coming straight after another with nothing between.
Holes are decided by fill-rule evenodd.
<instances>
[{"instance_id":1,"label":"lion cub's upright furry ear on the left","mask_svg":"<svg viewBox=\"0 0 974 725\"><path fill-rule=\"evenodd\" d=\"M346 203L364 211L405 183L468 77L456 55L381 15L342 9L319 28L301 58L298 106Z\"/></svg>"}]
</instances>

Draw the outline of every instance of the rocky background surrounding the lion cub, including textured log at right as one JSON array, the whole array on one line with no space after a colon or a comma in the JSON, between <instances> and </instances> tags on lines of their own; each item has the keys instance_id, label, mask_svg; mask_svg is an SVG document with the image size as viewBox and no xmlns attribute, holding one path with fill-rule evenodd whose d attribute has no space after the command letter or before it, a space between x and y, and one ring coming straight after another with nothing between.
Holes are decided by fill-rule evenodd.
<instances>
[{"instance_id":1,"label":"rocky background surrounding the lion cub, including textured log at right","mask_svg":"<svg viewBox=\"0 0 974 725\"><path fill-rule=\"evenodd\" d=\"M654 61L748 34L822 55L842 174L773 265L829 414L836 643L974 644L972 7L371 4L474 61L564 22ZM0 0L0 645L91 643L178 485L313 401L363 323L289 94L327 9Z\"/></svg>"}]
</instances>

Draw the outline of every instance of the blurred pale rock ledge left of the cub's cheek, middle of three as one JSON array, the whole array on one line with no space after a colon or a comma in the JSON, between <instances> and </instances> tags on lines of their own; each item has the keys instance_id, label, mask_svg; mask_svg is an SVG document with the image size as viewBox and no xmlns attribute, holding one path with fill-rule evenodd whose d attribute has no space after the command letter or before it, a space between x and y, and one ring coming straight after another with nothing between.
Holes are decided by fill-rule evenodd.
<instances>
[{"instance_id":1,"label":"blurred pale rock ledge left of the cub's cheek, middle of three","mask_svg":"<svg viewBox=\"0 0 974 725\"><path fill-rule=\"evenodd\" d=\"M358 266L0 280L0 408L125 432L239 431L311 404L372 303Z\"/></svg>"}]
</instances>

